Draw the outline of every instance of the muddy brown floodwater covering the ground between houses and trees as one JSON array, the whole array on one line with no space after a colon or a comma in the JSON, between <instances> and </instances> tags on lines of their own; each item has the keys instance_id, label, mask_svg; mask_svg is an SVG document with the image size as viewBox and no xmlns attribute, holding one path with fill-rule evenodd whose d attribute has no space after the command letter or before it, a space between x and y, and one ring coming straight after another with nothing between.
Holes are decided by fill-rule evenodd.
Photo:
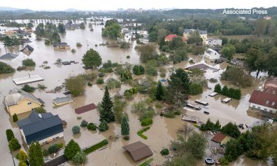
<instances>
[{"instance_id":1,"label":"muddy brown floodwater covering the ground between houses and trees","mask_svg":"<svg viewBox=\"0 0 277 166\"><path fill-rule=\"evenodd\" d=\"M1 27L3 29L5 27ZM35 35L32 35L30 46L33 46L35 50L30 55L25 55L24 53L19 53L20 48L12 49L13 53L19 53L19 56L11 61L3 61L14 68L17 66L21 66L22 59L27 57L33 58L36 62L35 68L29 68L26 71L16 71L12 74L3 74L0 75L0 100L3 100L3 96L7 95L10 90L14 88L21 88L22 86L16 86L12 82L12 78L14 77L23 77L27 76L28 73L30 75L39 74L41 77L44 77L44 81L31 83L31 86L37 86L38 83L43 83L47 86L47 90L54 89L56 86L62 85L64 79L70 77L71 75L78 75L80 73L91 73L91 70L84 70L82 68L82 55L87 51L87 48L96 49L100 56L102 57L102 62L106 62L107 60L111 60L111 62L125 63L129 62L131 64L139 64L139 55L134 50L134 46L136 46L136 42L132 44L132 48L130 49L120 49L120 48L108 48L107 46L95 46L95 44L101 44L105 42L111 42L109 39L103 39L101 37L101 28L102 26L93 26L94 31L89 31L89 28L85 30L66 30L66 35L62 35L62 42L67 42L71 48L75 48L77 50L76 53L71 53L70 50L53 50L53 46L46 46L43 41L35 41ZM8 29L8 28L5 28ZM76 42L80 42L83 46L81 48L76 48ZM0 55L5 53L5 49L3 48L3 44L0 43ZM87 44L89 46L87 46ZM130 58L127 59L126 56L129 55ZM62 61L75 61L79 62L79 64L71 64L69 66L56 66L55 60L57 58L62 59ZM204 62L204 59L200 56L190 55L190 58L194 59L196 63ZM48 66L51 66L50 69L44 69L39 67L42 65L42 62L48 61ZM210 62L207 62L211 64ZM168 75L170 75L170 68L184 68L188 66L188 62L182 62L175 65L168 65L166 68L168 69ZM206 71L205 77L209 79L211 77L217 78L219 80L220 74L226 68L226 63L222 64L211 64L215 68L221 68L220 71L213 73L212 71ZM94 71L93 71L94 72ZM105 76L105 80L108 77L117 77L114 74L107 74ZM135 76L134 79L143 78L142 76ZM155 80L160 79L161 77L154 77ZM231 86L228 82L220 82L221 84L226 84ZM213 89L216 83L208 83L208 87ZM224 98L222 95L217 95L215 98L208 97L208 94L211 93L212 89L205 89L204 93L201 95L195 95L190 98L189 102L194 102L194 100L204 100L209 103L208 109L202 109L202 111L193 111L193 110L182 110L189 116L198 116L202 122L206 122L207 118L211 118L211 120L220 120L222 124L226 124L227 122L236 122L244 123L244 124L252 124L257 119L252 116L247 115L247 110L249 109L249 98L251 95L251 91L253 89L259 88L260 81L256 81L255 84L251 88L242 89L242 100L232 100L228 104L222 104L220 100ZM70 104L66 104L62 107L54 107L53 99L57 97L61 97L62 92L60 93L45 93L44 91L35 91L34 95L37 98L42 98L44 100L45 109L48 112L53 113L54 115L59 115L62 120L67 122L67 126L64 129L64 138L60 140L60 142L69 142L72 138L78 142L81 148L89 147L91 145L100 142L103 139L109 140L109 145L106 149L102 149L100 151L94 151L93 153L88 155L89 164L88 165L138 165L142 163L143 160L134 162L132 160L132 156L128 154L122 147L132 142L136 142L138 140L144 142L146 145L150 146L150 149L153 151L153 163L161 164L166 158L160 155L160 151L163 147L170 147L170 140L174 140L177 138L177 130L180 127L183 127L186 122L182 121L181 118L164 118L159 115L154 117L154 123L150 127L148 131L145 131L145 135L148 136L148 140L143 140L140 138L136 132L141 129L141 124L139 122L138 116L134 113L131 113L132 103L134 101L144 100L145 95L136 95L134 100L127 101L127 107L125 111L129 115L129 125L130 125L130 140L123 140L120 137L120 124L111 123L109 124L109 130L105 132L99 131L88 131L87 129L81 129L81 133L78 135L74 135L71 131L71 128L74 125L80 125L81 120L78 120L78 117L82 117L82 119L87 120L88 122L94 122L99 124L99 116L98 111L88 111L82 114L76 114L74 109L84 106L85 104L95 103L98 104L102 100L103 91L101 90L102 85L93 84L93 86L86 86L86 91L84 95L80 95L78 97L73 98L74 102ZM116 94L118 91L123 91L123 89L127 89L129 86L123 84L121 89L113 89L111 90L111 95ZM210 114L207 116L203 113L203 111L209 111ZM19 139L19 142L22 144L22 138L19 133L19 129L17 128L17 124L12 122L12 118L9 116L7 111L4 109L2 102L0 102L0 131L1 134L1 156L0 165L12 165L12 158L8 153L8 142L6 141L6 129L12 129L15 133L15 137ZM28 116L28 113L23 113L19 115L19 120ZM118 138L119 137L119 138ZM113 139L111 139L113 138ZM117 139L116 139L117 138ZM26 146L24 145L26 148ZM71 165L71 163L66 163L66 165ZM199 165L204 165L204 162L201 161ZM249 158L242 156L235 163L231 163L231 165L271 165L271 163L256 163Z\"/></svg>"}]
</instances>

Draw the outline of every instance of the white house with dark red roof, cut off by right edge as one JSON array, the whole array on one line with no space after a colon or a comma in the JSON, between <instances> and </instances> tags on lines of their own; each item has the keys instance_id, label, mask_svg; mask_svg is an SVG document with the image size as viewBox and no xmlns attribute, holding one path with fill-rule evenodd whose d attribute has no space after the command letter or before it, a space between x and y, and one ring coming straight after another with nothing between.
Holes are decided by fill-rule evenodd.
<instances>
[{"instance_id":1,"label":"white house with dark red roof, cut off by right edge","mask_svg":"<svg viewBox=\"0 0 277 166\"><path fill-rule=\"evenodd\" d=\"M277 112L277 77L265 82L263 91L253 91L249 99L250 107L271 113Z\"/></svg>"}]
</instances>

